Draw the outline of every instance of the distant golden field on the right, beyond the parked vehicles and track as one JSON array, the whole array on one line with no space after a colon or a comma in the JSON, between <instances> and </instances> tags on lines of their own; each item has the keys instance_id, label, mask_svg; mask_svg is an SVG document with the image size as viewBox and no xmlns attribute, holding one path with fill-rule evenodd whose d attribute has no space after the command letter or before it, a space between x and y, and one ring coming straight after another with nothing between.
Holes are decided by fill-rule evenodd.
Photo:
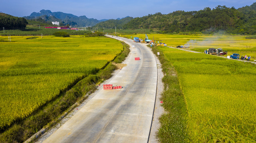
<instances>
[{"instance_id":1,"label":"distant golden field on the right, beyond the parked vehicles and track","mask_svg":"<svg viewBox=\"0 0 256 143\"><path fill-rule=\"evenodd\" d=\"M164 34L147 34L149 39L157 42L166 43L167 46L176 47L185 45L186 50L204 52L208 48L222 48L228 51L228 55L237 53L251 56L256 60L256 39L245 39L245 36L220 36L220 35L164 35ZM123 35L122 37L139 37L145 39L145 34ZM240 57L241 57L240 56Z\"/></svg>"}]
</instances>

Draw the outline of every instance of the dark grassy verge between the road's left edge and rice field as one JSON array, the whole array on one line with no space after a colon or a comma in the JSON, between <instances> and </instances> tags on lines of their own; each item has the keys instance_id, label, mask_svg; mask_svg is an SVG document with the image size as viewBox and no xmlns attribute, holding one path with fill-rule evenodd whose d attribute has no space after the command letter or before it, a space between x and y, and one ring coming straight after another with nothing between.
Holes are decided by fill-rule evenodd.
<instances>
[{"instance_id":1,"label":"dark grassy verge between the road's left edge and rice field","mask_svg":"<svg viewBox=\"0 0 256 143\"><path fill-rule=\"evenodd\" d=\"M123 52L113 62L121 63L129 54L129 45L123 44ZM0 143L22 143L42 128L50 128L58 123L73 108L96 90L97 83L112 76L117 67L112 63L94 75L88 75L73 87L60 93L56 100L46 104L28 118L15 122L10 128L0 133ZM38 137L38 136L37 136ZM37 138L36 137L36 138Z\"/></svg>"}]
</instances>

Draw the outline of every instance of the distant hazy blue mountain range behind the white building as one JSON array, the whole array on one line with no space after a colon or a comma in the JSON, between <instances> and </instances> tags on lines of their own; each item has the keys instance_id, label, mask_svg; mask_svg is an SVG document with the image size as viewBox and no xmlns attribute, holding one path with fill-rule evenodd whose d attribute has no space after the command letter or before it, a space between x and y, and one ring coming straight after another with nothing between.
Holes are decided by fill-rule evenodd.
<instances>
[{"instance_id":1,"label":"distant hazy blue mountain range behind the white building","mask_svg":"<svg viewBox=\"0 0 256 143\"><path fill-rule=\"evenodd\" d=\"M24 18L29 20L41 21L41 22L45 21L48 23L52 21L58 21L60 22L60 26L68 24L72 27L94 26L97 23L109 20L109 19L97 20L93 18L87 18L85 15L78 17L76 15L66 14L63 12L51 12L50 10L40 10L40 12L33 12L32 14L30 14L30 16L25 16ZM121 19L123 18L117 18L117 20L121 20Z\"/></svg>"}]
</instances>

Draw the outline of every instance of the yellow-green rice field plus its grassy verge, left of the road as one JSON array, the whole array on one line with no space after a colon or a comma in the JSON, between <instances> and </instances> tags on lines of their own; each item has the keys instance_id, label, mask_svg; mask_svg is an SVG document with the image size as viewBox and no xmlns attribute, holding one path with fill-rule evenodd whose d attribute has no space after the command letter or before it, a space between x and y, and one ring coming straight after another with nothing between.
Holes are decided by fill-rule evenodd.
<instances>
[{"instance_id":1,"label":"yellow-green rice field plus its grassy verge, left of the road","mask_svg":"<svg viewBox=\"0 0 256 143\"><path fill-rule=\"evenodd\" d=\"M129 53L129 46L105 37L12 41L0 45L0 142L23 142L51 126L97 83L111 77L116 67L109 62L119 63Z\"/></svg>"}]
</instances>

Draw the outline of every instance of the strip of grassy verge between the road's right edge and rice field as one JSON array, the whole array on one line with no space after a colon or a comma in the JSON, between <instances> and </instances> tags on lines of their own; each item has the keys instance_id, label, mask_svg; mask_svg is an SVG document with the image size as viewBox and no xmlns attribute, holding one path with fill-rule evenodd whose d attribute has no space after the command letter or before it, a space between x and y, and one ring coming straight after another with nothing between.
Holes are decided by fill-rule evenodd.
<instances>
[{"instance_id":1,"label":"strip of grassy verge between the road's right edge and rice field","mask_svg":"<svg viewBox=\"0 0 256 143\"><path fill-rule=\"evenodd\" d=\"M159 118L161 127L157 138L161 143L185 143L189 141L187 134L187 106L181 91L175 68L157 47L152 47L153 53L160 52L159 60L162 64L164 77L164 91L161 100L165 113Z\"/></svg>"}]
</instances>

